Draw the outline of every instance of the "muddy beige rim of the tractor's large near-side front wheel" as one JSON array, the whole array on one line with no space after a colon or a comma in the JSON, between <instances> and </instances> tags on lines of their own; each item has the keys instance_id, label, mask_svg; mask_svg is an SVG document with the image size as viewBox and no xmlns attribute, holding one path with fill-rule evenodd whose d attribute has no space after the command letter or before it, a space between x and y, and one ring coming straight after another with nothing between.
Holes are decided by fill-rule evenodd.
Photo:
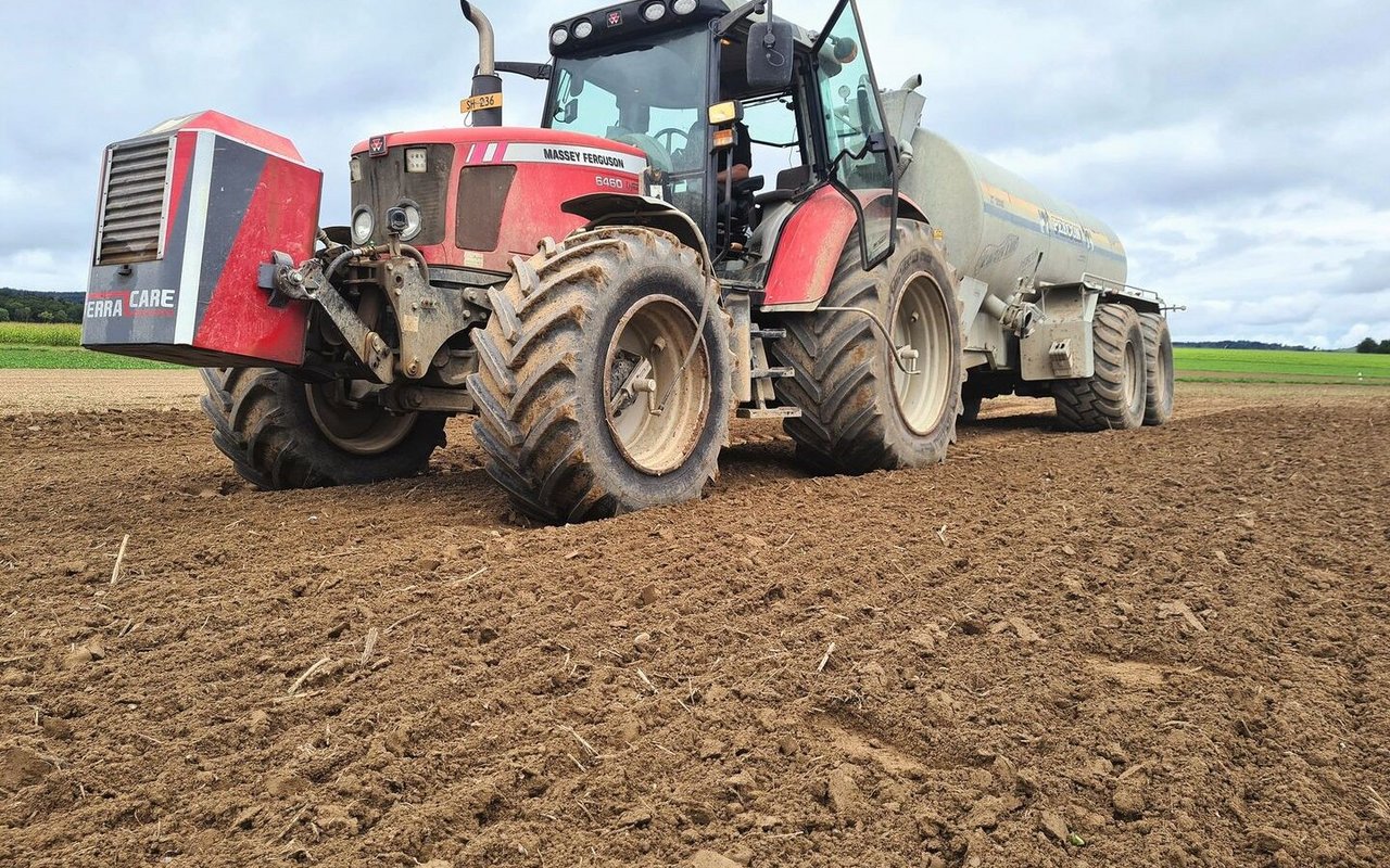
<instances>
[{"instance_id":1,"label":"muddy beige rim of the tractor's large near-side front wheel","mask_svg":"<svg viewBox=\"0 0 1390 868\"><path fill-rule=\"evenodd\" d=\"M603 411L619 451L638 471L660 476L689 458L709 414L703 339L681 368L696 322L670 296L646 296L619 321L603 365ZM664 408L652 412L652 406Z\"/></svg>"}]
</instances>

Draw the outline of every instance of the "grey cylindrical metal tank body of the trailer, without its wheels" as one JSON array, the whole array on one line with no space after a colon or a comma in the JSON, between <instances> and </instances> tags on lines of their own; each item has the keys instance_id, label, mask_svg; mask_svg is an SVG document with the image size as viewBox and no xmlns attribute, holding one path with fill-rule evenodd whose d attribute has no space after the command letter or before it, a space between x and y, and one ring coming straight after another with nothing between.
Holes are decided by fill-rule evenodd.
<instances>
[{"instance_id":1,"label":"grey cylindrical metal tank body of the trailer, without its wheels","mask_svg":"<svg viewBox=\"0 0 1390 868\"><path fill-rule=\"evenodd\" d=\"M1008 299L1020 278L1076 283L1083 274L1125 283L1115 231L1013 172L919 128L924 99L913 85L884 94L890 128L912 142L902 192L944 233L947 261ZM910 139L909 139L910 136ZM1041 260L1038 258L1041 254Z\"/></svg>"}]
</instances>

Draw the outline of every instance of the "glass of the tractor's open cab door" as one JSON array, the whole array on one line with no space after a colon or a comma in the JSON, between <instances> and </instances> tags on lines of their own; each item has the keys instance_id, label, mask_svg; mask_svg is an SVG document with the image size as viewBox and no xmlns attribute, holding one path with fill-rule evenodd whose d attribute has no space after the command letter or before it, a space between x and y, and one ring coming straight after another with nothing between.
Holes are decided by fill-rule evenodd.
<instances>
[{"instance_id":1,"label":"glass of the tractor's open cab door","mask_svg":"<svg viewBox=\"0 0 1390 868\"><path fill-rule=\"evenodd\" d=\"M849 190L895 190L891 156L870 149L872 140L883 140L885 124L853 0L841 0L816 43L816 62L828 156L838 157L835 178ZM891 251L895 203L895 196L880 199L863 214L866 267Z\"/></svg>"}]
</instances>

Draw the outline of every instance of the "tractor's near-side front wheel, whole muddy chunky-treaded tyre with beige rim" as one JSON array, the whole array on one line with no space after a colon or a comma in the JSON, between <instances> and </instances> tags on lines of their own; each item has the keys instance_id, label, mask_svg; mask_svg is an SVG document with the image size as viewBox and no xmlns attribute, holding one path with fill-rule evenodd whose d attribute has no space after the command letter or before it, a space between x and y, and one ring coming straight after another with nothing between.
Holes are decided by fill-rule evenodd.
<instances>
[{"instance_id":1,"label":"tractor's near-side front wheel, whole muddy chunky-treaded tyre with beige rim","mask_svg":"<svg viewBox=\"0 0 1390 868\"><path fill-rule=\"evenodd\" d=\"M468 390L488 474L524 515L578 522L699 497L728 437L728 324L673 235L545 243L488 293Z\"/></svg>"}]
</instances>

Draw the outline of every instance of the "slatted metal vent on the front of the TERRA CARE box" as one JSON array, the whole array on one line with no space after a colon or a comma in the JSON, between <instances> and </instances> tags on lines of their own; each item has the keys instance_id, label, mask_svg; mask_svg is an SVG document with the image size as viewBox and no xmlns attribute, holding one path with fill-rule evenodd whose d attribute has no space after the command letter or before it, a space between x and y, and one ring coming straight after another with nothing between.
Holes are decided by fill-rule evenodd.
<instances>
[{"instance_id":1,"label":"slatted metal vent on the front of the TERRA CARE box","mask_svg":"<svg viewBox=\"0 0 1390 868\"><path fill-rule=\"evenodd\" d=\"M147 262L164 256L174 136L131 142L107 151L96 264Z\"/></svg>"}]
</instances>

